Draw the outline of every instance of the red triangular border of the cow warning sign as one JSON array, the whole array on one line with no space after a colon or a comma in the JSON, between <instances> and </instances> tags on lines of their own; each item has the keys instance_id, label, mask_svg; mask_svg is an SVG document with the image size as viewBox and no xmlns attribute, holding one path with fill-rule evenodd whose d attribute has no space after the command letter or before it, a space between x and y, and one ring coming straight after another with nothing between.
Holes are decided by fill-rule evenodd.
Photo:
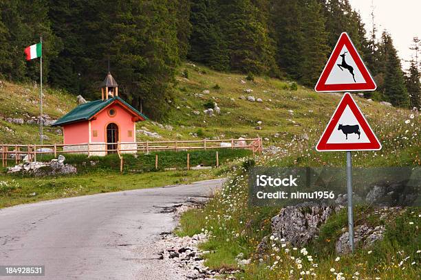
<instances>
[{"instance_id":1,"label":"red triangular border of the cow warning sign","mask_svg":"<svg viewBox=\"0 0 421 280\"><path fill-rule=\"evenodd\" d=\"M333 130L336 128L341 115L345 108L349 106L356 117L360 128L363 129L369 143L327 143L330 135L332 135ZM318 152L329 152L329 151L367 151L367 150L381 150L382 144L378 141L376 135L374 135L373 130L369 126L367 119L365 119L363 113L361 113L360 108L356 104L355 100L352 98L351 93L345 93L339 102L338 107L332 117L330 118L329 123L327 124L325 131L323 132L319 142L316 145L316 150Z\"/></svg>"}]
</instances>

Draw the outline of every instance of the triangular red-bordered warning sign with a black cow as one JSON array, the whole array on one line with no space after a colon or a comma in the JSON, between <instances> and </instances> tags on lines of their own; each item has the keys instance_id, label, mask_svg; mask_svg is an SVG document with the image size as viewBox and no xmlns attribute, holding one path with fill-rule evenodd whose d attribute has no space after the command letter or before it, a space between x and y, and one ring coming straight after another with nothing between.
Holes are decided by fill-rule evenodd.
<instances>
[{"instance_id":1,"label":"triangular red-bordered warning sign with a black cow","mask_svg":"<svg viewBox=\"0 0 421 280\"><path fill-rule=\"evenodd\" d=\"M381 148L382 145L351 94L345 93L317 143L316 150L324 152Z\"/></svg>"}]
</instances>

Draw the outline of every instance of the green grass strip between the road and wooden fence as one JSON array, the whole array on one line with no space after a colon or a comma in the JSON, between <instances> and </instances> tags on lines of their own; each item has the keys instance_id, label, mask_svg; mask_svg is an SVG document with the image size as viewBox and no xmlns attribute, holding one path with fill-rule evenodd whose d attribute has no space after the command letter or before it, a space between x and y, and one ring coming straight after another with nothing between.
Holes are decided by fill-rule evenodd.
<instances>
[{"instance_id":1,"label":"green grass strip between the road and wooden fence","mask_svg":"<svg viewBox=\"0 0 421 280\"><path fill-rule=\"evenodd\" d=\"M43 178L0 175L0 208L55 198L191 183L213 177L209 170L144 174L98 171L89 174Z\"/></svg>"}]
</instances>

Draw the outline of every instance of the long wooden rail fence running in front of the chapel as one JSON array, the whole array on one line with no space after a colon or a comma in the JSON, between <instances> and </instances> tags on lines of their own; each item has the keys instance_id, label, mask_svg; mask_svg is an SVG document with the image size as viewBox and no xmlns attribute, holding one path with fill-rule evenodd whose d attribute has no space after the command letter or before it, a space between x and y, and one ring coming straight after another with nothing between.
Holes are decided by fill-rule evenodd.
<instances>
[{"instance_id":1,"label":"long wooden rail fence running in front of the chapel","mask_svg":"<svg viewBox=\"0 0 421 280\"><path fill-rule=\"evenodd\" d=\"M114 145L116 149L107 149L107 145ZM77 148L77 149L72 149ZM125 153L155 152L165 150L210 150L210 149L248 149L252 153L261 153L261 138L252 139L223 139L223 140L186 140L186 141L144 141L119 143L78 143L78 144L47 144L47 145L11 145L0 144L1 162L3 167L8 161L18 164L25 157L28 161L36 161L43 154L87 154L117 153L122 161Z\"/></svg>"}]
</instances>

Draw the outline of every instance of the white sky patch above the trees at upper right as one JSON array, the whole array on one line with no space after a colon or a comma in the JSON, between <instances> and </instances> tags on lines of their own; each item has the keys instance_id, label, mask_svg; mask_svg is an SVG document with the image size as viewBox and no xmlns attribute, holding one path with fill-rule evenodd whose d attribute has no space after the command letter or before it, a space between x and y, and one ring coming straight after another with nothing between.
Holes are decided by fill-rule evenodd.
<instances>
[{"instance_id":1,"label":"white sky patch above the trees at upper right","mask_svg":"<svg viewBox=\"0 0 421 280\"><path fill-rule=\"evenodd\" d=\"M387 30L393 39L393 45L398 49L404 69L411 60L413 51L409 49L412 38L421 38L421 0L372 0L374 4L375 23L378 38L383 30ZM371 0L349 0L352 8L360 12L367 32L371 30ZM420 56L418 56L420 60Z\"/></svg>"}]
</instances>

